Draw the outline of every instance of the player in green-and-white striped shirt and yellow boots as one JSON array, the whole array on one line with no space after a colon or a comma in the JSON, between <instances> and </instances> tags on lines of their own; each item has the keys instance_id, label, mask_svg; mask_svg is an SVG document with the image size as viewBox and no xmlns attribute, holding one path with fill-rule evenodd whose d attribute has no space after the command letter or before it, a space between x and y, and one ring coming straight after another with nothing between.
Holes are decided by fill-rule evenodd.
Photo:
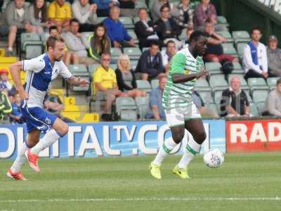
<instances>
[{"instance_id":1,"label":"player in green-and-white striped shirt and yellow boots","mask_svg":"<svg viewBox=\"0 0 281 211\"><path fill-rule=\"evenodd\" d=\"M200 146L206 139L201 115L191 98L196 79L208 75L202 60L206 49L207 37L204 33L195 31L190 35L190 44L172 58L162 98L172 139L164 141L155 160L150 164L150 173L156 179L162 179L162 161L182 141L185 129L192 134L194 140L188 141L183 157L173 170L182 179L189 178L188 163L199 153Z\"/></svg>"}]
</instances>

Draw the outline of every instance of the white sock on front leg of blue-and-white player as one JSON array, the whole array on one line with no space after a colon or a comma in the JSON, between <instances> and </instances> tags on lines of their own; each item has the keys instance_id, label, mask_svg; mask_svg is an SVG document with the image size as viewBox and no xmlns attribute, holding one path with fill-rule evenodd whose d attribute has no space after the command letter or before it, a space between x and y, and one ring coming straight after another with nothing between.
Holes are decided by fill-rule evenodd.
<instances>
[{"instance_id":1,"label":"white sock on front leg of blue-and-white player","mask_svg":"<svg viewBox=\"0 0 281 211\"><path fill-rule=\"evenodd\" d=\"M58 141L58 139L60 138L60 135L55 131L55 129L50 129L45 136L43 137L43 139L41 139L39 141L39 143L37 143L37 145L35 145L32 149L31 149L31 153L38 155L41 151L43 151L45 148L53 145L53 143L55 143L55 141Z\"/></svg>"}]
</instances>

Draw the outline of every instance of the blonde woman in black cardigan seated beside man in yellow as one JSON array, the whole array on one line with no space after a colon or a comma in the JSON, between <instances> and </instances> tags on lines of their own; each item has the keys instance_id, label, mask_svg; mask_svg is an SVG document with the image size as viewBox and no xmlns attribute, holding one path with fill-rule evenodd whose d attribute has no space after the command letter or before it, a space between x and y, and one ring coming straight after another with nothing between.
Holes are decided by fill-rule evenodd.
<instances>
[{"instance_id":1,"label":"blonde woman in black cardigan seated beside man in yellow","mask_svg":"<svg viewBox=\"0 0 281 211\"><path fill-rule=\"evenodd\" d=\"M119 89L124 91L127 96L146 96L145 91L136 89L136 77L131 69L131 62L128 55L122 54L119 56L115 73Z\"/></svg>"}]
</instances>

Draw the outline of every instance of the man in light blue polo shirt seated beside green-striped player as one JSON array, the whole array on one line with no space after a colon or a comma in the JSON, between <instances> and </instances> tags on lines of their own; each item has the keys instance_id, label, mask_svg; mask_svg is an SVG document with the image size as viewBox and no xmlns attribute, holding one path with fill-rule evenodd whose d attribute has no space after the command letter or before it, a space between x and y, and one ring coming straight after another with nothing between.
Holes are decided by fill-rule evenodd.
<instances>
[{"instance_id":1,"label":"man in light blue polo shirt seated beside green-striped player","mask_svg":"<svg viewBox=\"0 0 281 211\"><path fill-rule=\"evenodd\" d=\"M150 92L150 102L148 106L148 112L146 114L146 117L148 119L160 120L166 117L164 113L164 108L162 106L162 96L166 82L166 76L160 77L159 87L152 89Z\"/></svg>"}]
</instances>

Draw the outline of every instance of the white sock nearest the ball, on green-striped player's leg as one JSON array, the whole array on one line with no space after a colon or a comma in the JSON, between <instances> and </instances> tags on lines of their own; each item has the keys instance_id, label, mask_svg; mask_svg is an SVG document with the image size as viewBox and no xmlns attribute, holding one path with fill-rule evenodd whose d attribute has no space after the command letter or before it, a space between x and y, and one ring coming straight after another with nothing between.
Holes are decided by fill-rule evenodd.
<instances>
[{"instance_id":1,"label":"white sock nearest the ball, on green-striped player's leg","mask_svg":"<svg viewBox=\"0 0 281 211\"><path fill-rule=\"evenodd\" d=\"M183 152L183 157L181 157L180 162L178 162L178 167L185 169L188 167L189 162L195 157L200 151L201 144L197 143L193 139L188 141L186 148Z\"/></svg>"}]
</instances>

